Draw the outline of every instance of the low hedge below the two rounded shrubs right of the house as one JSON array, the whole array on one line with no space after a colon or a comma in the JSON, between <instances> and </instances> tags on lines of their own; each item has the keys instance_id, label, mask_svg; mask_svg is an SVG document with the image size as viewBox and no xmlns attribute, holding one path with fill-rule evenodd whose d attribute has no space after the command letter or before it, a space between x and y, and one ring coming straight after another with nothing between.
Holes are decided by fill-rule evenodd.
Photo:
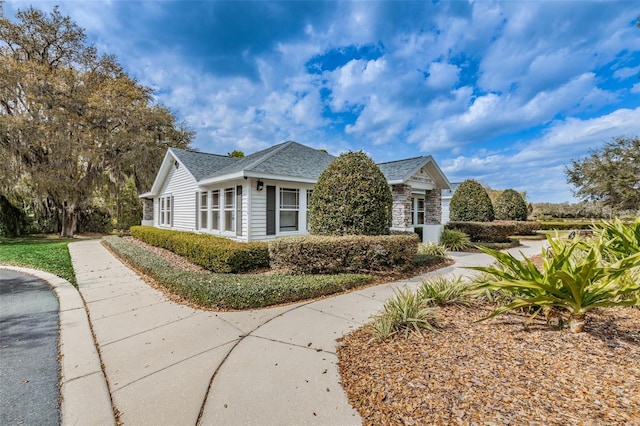
<instances>
[{"instance_id":1,"label":"low hedge below the two rounded shrubs right of the house","mask_svg":"<svg viewBox=\"0 0 640 426\"><path fill-rule=\"evenodd\" d=\"M495 221L495 222L448 222L446 229L461 231L472 242L506 243L512 235L532 235L540 229L539 222Z\"/></svg>"}]
</instances>

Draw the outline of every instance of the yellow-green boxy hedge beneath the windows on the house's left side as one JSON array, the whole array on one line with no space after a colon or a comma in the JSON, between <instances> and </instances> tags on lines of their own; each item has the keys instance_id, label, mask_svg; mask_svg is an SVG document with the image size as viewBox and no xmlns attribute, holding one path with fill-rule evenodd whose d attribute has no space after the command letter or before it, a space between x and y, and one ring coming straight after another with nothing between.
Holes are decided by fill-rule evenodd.
<instances>
[{"instance_id":1,"label":"yellow-green boxy hedge beneath the windows on the house's left side","mask_svg":"<svg viewBox=\"0 0 640 426\"><path fill-rule=\"evenodd\" d=\"M184 256L212 272L247 272L269 266L267 243L240 243L208 234L151 226L132 226L131 236Z\"/></svg>"}]
</instances>

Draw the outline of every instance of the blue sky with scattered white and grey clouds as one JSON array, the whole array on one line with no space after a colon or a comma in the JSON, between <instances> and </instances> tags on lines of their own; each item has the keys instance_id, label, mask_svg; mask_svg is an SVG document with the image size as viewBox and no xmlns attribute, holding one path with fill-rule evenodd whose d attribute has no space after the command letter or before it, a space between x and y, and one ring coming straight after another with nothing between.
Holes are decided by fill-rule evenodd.
<instances>
[{"instance_id":1,"label":"blue sky with scattered white and grey clouds","mask_svg":"<svg viewBox=\"0 0 640 426\"><path fill-rule=\"evenodd\" d=\"M637 1L8 1L86 30L197 132L376 162L433 155L452 182L573 202L565 166L640 136Z\"/></svg>"}]
</instances>

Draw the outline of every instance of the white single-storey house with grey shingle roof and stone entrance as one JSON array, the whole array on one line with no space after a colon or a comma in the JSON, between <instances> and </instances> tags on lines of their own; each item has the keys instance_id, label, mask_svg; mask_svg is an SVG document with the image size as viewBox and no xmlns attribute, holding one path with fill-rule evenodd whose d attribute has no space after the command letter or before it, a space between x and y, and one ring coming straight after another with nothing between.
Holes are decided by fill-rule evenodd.
<instances>
[{"instance_id":1,"label":"white single-storey house with grey shingle roof and stone entrance","mask_svg":"<svg viewBox=\"0 0 640 426\"><path fill-rule=\"evenodd\" d=\"M170 148L140 195L142 224L244 242L306 235L313 186L334 158L292 141L244 158ZM378 166L393 193L392 230L439 241L441 191L450 184L433 157Z\"/></svg>"}]
</instances>

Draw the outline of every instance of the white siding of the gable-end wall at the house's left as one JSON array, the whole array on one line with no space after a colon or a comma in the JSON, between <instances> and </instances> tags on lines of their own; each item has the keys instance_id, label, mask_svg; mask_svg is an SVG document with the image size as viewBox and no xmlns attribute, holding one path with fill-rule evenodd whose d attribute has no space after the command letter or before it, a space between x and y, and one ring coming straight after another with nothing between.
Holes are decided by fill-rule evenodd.
<instances>
[{"instance_id":1,"label":"white siding of the gable-end wall at the house's left","mask_svg":"<svg viewBox=\"0 0 640 426\"><path fill-rule=\"evenodd\" d=\"M173 226L171 229L180 231L195 231L196 228L196 197L198 185L191 174L180 166L171 168L167 180L162 185L160 196L173 196ZM154 201L154 205L157 200ZM154 221L159 225L159 207L154 207Z\"/></svg>"}]
</instances>

